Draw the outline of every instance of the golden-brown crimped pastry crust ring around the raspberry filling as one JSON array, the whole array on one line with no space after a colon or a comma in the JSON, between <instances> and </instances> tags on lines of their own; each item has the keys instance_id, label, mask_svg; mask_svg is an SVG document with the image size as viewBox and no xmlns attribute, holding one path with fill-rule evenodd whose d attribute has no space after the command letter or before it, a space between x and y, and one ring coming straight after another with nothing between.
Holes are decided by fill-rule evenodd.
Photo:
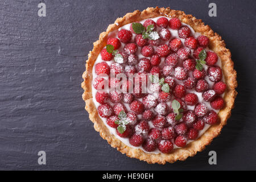
<instances>
[{"instance_id":1,"label":"golden-brown crimped pastry crust ring around the raspberry filling","mask_svg":"<svg viewBox=\"0 0 256 182\"><path fill-rule=\"evenodd\" d=\"M92 100L92 69L93 64L96 61L102 48L106 46L108 35L110 32L117 30L119 27L124 26L127 23L139 22L143 19L155 18L157 16L168 16L170 18L179 18L181 22L189 24L196 32L199 32L202 35L208 36L210 43L209 48L220 56L222 63L222 72L225 77L225 83L227 85L224 100L225 107L220 110L218 113L220 117L220 123L210 126L207 131L197 140L187 144L183 148L176 148L171 152L171 154L152 154L146 153L139 148L132 148L126 146L122 143L121 140L116 138L113 134L110 133L108 127L101 120L98 115L97 108ZM165 164L166 162L174 163L176 160L185 160L189 156L196 155L197 152L204 150L205 146L212 142L213 138L217 137L220 134L220 131L224 125L226 125L227 119L231 115L231 110L234 106L234 100L237 96L236 87L237 73L233 68L233 61L231 59L231 53L229 49L225 47L224 40L221 39L221 36L213 32L213 30L205 25L201 19L196 19L192 15L186 15L183 11L171 10L167 8L159 7L148 7L142 12L139 10L134 11L133 13L127 13L122 18L115 20L114 24L110 24L106 32L100 34L99 40L93 43L93 50L89 52L88 60L86 61L86 71L82 75L84 82L81 86L84 89L84 94L82 98L86 103L85 109L89 113L90 120L94 123L94 129L98 131L102 138L106 139L108 143L117 148L118 151L122 154L126 154L130 158L137 158L139 160L144 160L147 163L159 163Z\"/></svg>"}]
</instances>

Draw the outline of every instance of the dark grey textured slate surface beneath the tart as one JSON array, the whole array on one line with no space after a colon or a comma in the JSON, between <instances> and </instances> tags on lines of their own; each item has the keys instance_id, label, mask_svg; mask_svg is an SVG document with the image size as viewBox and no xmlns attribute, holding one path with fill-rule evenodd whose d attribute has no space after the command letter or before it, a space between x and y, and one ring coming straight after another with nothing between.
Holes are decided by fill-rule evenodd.
<instances>
[{"instance_id":1,"label":"dark grey textured slate surface beneath the tart","mask_svg":"<svg viewBox=\"0 0 256 182\"><path fill-rule=\"evenodd\" d=\"M255 1L0 2L0 169L256 169ZM210 2L217 17L208 16ZM118 16L170 6L203 19L232 51L236 107L222 134L185 162L147 164L127 158L94 131L82 101L82 72L92 43ZM46 151L39 166L37 153ZM208 152L217 152L217 165Z\"/></svg>"}]
</instances>

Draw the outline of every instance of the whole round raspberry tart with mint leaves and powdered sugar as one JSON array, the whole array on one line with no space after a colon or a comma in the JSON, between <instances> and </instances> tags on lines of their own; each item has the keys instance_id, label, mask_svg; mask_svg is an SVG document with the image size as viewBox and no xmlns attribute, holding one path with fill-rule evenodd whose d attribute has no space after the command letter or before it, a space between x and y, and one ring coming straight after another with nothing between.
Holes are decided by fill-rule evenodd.
<instances>
[{"instance_id":1,"label":"whole round raspberry tart with mint leaves and powdered sugar","mask_svg":"<svg viewBox=\"0 0 256 182\"><path fill-rule=\"evenodd\" d=\"M200 19L148 7L110 24L82 75L90 120L131 158L165 164L204 150L231 115L231 53Z\"/></svg>"}]
</instances>

